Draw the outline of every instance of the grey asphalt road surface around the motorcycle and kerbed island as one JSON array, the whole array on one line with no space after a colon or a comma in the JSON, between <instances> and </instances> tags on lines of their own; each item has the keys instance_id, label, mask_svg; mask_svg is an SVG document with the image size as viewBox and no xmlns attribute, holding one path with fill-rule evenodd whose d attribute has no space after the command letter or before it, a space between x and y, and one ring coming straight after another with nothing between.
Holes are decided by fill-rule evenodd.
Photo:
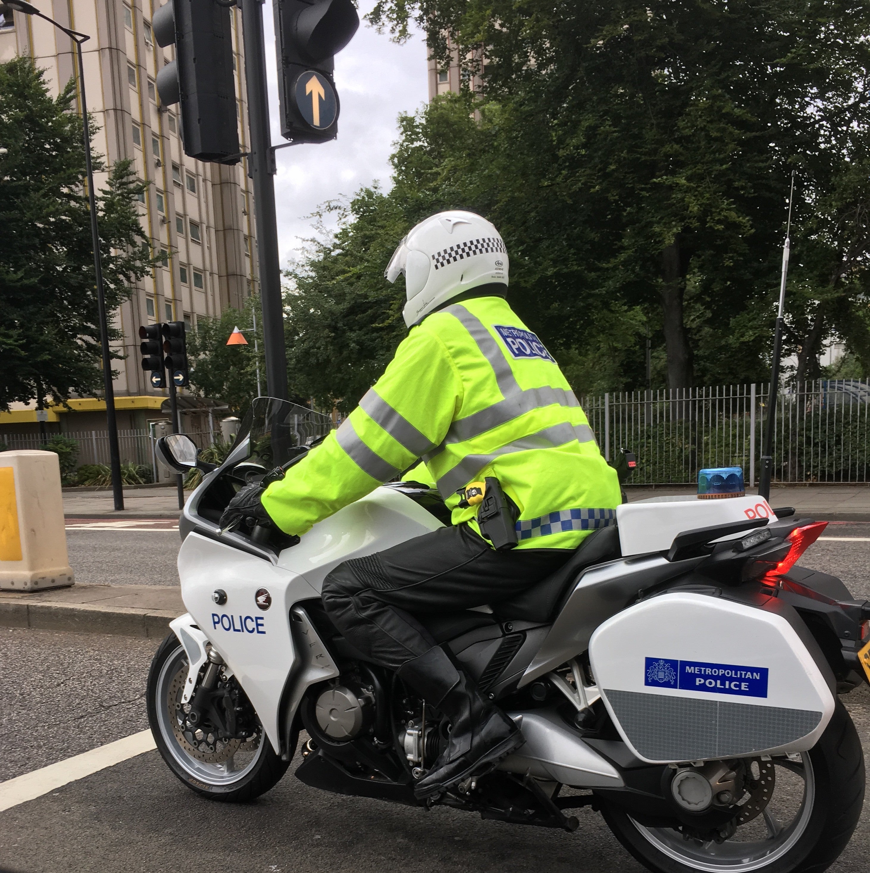
<instances>
[{"instance_id":1,"label":"grey asphalt road surface around the motorcycle and kerbed island","mask_svg":"<svg viewBox=\"0 0 870 873\"><path fill-rule=\"evenodd\" d=\"M870 525L837 526L826 533L870 537ZM142 566L164 567L165 574L169 543L164 541L177 549L177 533L75 532L69 540L78 573L84 567L105 574L88 581L112 581L109 575ZM174 568L174 552L169 560ZM827 541L813 546L802 563L839 574L855 596L870 597L867 560L870 542ZM142 730L145 675L155 647L155 641L126 637L0 630L0 780ZM870 691L862 688L844 699L870 754ZM297 765L298 759L258 801L224 806L192 794L158 753L145 753L3 812L0 868L15 873L642 870L589 809L577 812L581 826L575 834L522 828L445 808L425 812L326 794L295 780ZM865 870L868 855L870 811L832 873Z\"/></svg>"}]
</instances>

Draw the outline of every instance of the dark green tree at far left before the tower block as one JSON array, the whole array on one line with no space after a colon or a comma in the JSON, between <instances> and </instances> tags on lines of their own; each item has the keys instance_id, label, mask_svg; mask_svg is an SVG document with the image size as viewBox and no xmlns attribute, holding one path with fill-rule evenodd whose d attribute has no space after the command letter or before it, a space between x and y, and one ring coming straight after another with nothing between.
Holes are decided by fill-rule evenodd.
<instances>
[{"instance_id":1,"label":"dark green tree at far left before the tower block","mask_svg":"<svg viewBox=\"0 0 870 873\"><path fill-rule=\"evenodd\" d=\"M93 395L102 385L82 122L74 97L71 81L52 100L30 58L0 65L0 409ZM99 155L94 168L106 169ZM121 161L109 168L98 196L109 313L152 263L135 209L144 189L131 163ZM120 340L121 332L110 327L109 339Z\"/></svg>"}]
</instances>

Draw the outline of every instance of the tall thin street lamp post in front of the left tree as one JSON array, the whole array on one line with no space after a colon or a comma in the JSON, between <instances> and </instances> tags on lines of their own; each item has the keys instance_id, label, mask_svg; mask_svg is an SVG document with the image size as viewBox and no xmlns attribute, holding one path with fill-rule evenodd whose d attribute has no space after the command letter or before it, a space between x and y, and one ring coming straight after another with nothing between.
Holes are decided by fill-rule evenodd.
<instances>
[{"instance_id":1,"label":"tall thin street lamp post in front of the left tree","mask_svg":"<svg viewBox=\"0 0 870 873\"><path fill-rule=\"evenodd\" d=\"M93 166L91 163L91 137L87 127L87 103L85 99L85 62L82 56L82 43L90 39L85 33L71 31L58 24L53 18L43 15L36 6L25 3L24 0L3 0L0 12L12 10L24 15L35 15L53 24L59 31L66 33L76 45L76 55L79 58L79 87L81 94L82 139L85 145L85 170L87 176L87 201L91 210L91 239L93 242L93 272L97 283L97 309L100 317L100 346L103 356L103 385L106 394L106 423L109 439L109 459L112 469L112 495L114 508L124 508L124 491L121 487L121 450L118 446L118 424L114 415L114 387L112 385L112 366L108 345L108 322L106 315L106 292L103 288L103 270L100 262L100 231L97 226L97 201L93 189Z\"/></svg>"}]
</instances>

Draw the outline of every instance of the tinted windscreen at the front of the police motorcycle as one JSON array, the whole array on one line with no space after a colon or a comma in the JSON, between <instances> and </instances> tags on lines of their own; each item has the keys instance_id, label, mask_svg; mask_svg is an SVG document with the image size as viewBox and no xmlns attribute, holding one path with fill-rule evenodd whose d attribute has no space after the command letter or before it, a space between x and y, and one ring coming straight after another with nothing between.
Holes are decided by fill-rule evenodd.
<instances>
[{"instance_id":1,"label":"tinted windscreen at the front of the police motorcycle","mask_svg":"<svg viewBox=\"0 0 870 873\"><path fill-rule=\"evenodd\" d=\"M238 432L250 436L248 458L267 470L287 464L300 446L310 446L333 427L331 416L276 397L257 397Z\"/></svg>"}]
</instances>

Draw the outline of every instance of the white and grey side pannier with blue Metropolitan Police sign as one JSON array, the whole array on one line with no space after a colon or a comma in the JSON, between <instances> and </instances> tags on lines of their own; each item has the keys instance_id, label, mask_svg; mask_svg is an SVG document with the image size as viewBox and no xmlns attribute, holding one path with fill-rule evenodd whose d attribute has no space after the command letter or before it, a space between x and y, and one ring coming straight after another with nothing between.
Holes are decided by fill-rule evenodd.
<instances>
[{"instance_id":1,"label":"white and grey side pannier with blue Metropolitan Police sign","mask_svg":"<svg viewBox=\"0 0 870 873\"><path fill-rule=\"evenodd\" d=\"M652 597L604 622L589 654L619 733L651 763L805 751L833 713L784 616L722 597Z\"/></svg>"}]
</instances>

